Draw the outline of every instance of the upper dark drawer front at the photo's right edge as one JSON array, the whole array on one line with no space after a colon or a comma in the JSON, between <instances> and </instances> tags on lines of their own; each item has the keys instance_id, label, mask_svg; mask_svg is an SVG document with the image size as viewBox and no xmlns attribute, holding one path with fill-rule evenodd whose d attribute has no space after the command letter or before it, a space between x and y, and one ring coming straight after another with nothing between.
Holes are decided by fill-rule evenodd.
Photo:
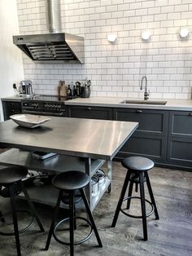
<instances>
[{"instance_id":1,"label":"upper dark drawer front at the photo's right edge","mask_svg":"<svg viewBox=\"0 0 192 256\"><path fill-rule=\"evenodd\" d=\"M171 111L168 133L169 136L192 138L192 112Z\"/></svg>"}]
</instances>

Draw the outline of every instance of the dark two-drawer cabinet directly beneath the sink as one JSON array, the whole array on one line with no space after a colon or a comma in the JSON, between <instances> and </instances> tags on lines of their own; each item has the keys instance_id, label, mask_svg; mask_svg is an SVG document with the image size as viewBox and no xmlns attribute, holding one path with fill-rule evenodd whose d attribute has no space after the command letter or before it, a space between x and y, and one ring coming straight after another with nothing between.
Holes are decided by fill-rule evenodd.
<instances>
[{"instance_id":1,"label":"dark two-drawer cabinet directly beneath the sink","mask_svg":"<svg viewBox=\"0 0 192 256\"><path fill-rule=\"evenodd\" d=\"M120 149L117 158L129 156L150 157L155 162L166 160L168 111L137 108L114 108L118 121L137 121L139 126Z\"/></svg>"}]
</instances>

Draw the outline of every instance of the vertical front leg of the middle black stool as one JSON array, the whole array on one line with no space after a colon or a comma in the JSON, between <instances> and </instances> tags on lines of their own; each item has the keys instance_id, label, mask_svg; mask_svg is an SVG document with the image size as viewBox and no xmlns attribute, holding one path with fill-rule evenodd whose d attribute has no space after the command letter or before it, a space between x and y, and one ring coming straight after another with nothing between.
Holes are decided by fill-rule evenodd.
<instances>
[{"instance_id":1,"label":"vertical front leg of the middle black stool","mask_svg":"<svg viewBox=\"0 0 192 256\"><path fill-rule=\"evenodd\" d=\"M70 255L74 255L74 195L69 193Z\"/></svg>"}]
</instances>

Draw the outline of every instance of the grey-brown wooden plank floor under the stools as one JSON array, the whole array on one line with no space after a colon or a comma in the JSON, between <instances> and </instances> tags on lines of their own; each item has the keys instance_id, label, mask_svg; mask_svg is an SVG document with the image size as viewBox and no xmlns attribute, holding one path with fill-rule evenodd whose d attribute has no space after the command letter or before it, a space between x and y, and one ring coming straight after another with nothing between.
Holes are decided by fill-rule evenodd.
<instances>
[{"instance_id":1,"label":"grey-brown wooden plank floor under the stools","mask_svg":"<svg viewBox=\"0 0 192 256\"><path fill-rule=\"evenodd\" d=\"M125 170L114 163L113 191L105 194L94 210L98 232L103 248L98 248L93 235L89 241L76 245L75 255L192 255L192 172L154 168L149 172L151 185L159 210L159 220L154 215L147 219L148 241L142 241L142 220L129 218L120 213L115 228L111 222L120 196ZM43 195L42 195L43 196ZM147 197L146 193L146 197ZM0 200L0 208L8 207L5 199ZM24 201L18 201L25 206ZM136 209L137 202L132 203ZM50 249L44 251L47 231L50 226L52 208L36 204L45 233L39 233L37 224L20 235L23 255L69 255L69 248L51 240ZM25 222L26 219L23 219ZM0 255L15 255L14 237L0 236ZM12 245L11 245L12 244Z\"/></svg>"}]
</instances>

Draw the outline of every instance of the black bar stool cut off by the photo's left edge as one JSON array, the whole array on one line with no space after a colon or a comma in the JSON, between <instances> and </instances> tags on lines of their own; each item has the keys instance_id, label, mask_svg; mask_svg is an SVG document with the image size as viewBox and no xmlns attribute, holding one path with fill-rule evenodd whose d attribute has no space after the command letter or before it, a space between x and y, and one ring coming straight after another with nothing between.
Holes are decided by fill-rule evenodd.
<instances>
[{"instance_id":1,"label":"black bar stool cut off by the photo's left edge","mask_svg":"<svg viewBox=\"0 0 192 256\"><path fill-rule=\"evenodd\" d=\"M11 214L13 218L13 225L14 225L14 232L0 232L2 236L13 236L15 235L15 242L17 248L17 255L21 255L20 252L20 236L19 234L26 231L29 227L31 227L31 222L28 227L25 227L23 230L19 231L18 222L17 222L17 210L15 209L15 196L18 195L20 192L24 192L24 196L28 201L29 208L33 214L33 217L36 218L37 224L40 227L41 232L44 232L44 228L41 225L41 222L37 216L37 211L33 206L33 202L30 200L28 196L28 192L24 187L24 183L22 179L24 179L28 174L28 170L25 167L21 166L11 166L6 167L0 170L0 188L1 189L0 195L4 197L10 197L11 199ZM25 211L25 210L20 210ZM0 211L0 218L2 222L6 222L6 216L2 214Z\"/></svg>"}]
</instances>

